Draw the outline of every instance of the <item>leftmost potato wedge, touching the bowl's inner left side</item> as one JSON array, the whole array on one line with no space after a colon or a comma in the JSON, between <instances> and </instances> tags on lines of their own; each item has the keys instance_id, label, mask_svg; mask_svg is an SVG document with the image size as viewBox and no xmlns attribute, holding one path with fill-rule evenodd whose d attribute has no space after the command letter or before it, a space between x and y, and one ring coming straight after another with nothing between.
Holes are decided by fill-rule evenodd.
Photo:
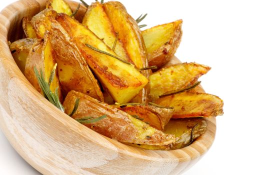
<instances>
[{"instance_id":1,"label":"leftmost potato wedge, touching the bowl's inner left side","mask_svg":"<svg viewBox=\"0 0 264 175\"><path fill-rule=\"evenodd\" d=\"M17 66L19 67L22 73L24 73L25 61L28 56L29 50L31 49L33 43L36 40L37 39L33 38L24 38L9 43L9 48L14 58L14 61L16 62Z\"/></svg>"}]
</instances>

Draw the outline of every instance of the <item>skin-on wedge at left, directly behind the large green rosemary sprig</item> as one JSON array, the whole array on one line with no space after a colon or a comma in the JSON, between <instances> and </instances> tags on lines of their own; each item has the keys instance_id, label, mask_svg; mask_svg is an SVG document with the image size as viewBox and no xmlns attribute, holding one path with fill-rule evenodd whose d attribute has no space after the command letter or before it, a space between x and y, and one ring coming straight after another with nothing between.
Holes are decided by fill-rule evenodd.
<instances>
[{"instance_id":1,"label":"skin-on wedge at left, directly behind the large green rosemary sprig","mask_svg":"<svg viewBox=\"0 0 264 175\"><path fill-rule=\"evenodd\" d=\"M38 39L36 42L34 42L29 51L25 64L25 77L35 87L35 89L37 89L37 91L41 92L42 94L43 92L40 89L36 75L34 73L34 67L36 67L38 71L40 71L40 69L43 71L45 81L48 82L55 63L55 54L52 51L51 38L49 33L46 32L43 41L42 39ZM55 71L53 81L50 83L50 90L54 92L57 87L59 99L62 101L57 71Z\"/></svg>"}]
</instances>

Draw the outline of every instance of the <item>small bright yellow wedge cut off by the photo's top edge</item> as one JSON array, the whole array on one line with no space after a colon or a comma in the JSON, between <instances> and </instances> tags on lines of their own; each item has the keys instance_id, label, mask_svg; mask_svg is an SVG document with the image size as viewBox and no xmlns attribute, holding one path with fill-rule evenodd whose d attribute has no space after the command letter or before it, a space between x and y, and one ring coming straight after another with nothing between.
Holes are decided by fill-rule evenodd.
<instances>
[{"instance_id":1,"label":"small bright yellow wedge cut off by the photo's top edge","mask_svg":"<svg viewBox=\"0 0 264 175\"><path fill-rule=\"evenodd\" d=\"M53 9L58 13L72 14L72 10L65 0L47 0L46 8Z\"/></svg>"}]
</instances>

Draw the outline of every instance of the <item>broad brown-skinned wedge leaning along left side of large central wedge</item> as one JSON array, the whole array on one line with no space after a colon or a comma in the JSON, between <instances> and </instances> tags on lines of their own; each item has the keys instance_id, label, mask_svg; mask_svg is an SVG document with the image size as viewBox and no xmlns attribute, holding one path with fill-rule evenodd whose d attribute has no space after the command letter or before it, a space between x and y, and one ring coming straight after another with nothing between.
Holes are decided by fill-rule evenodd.
<instances>
[{"instance_id":1,"label":"broad brown-skinned wedge leaning along left side of large central wedge","mask_svg":"<svg viewBox=\"0 0 264 175\"><path fill-rule=\"evenodd\" d=\"M100 101L103 95L80 50L57 22L51 22L52 47L56 52L58 77L64 94L76 90Z\"/></svg>"}]
</instances>

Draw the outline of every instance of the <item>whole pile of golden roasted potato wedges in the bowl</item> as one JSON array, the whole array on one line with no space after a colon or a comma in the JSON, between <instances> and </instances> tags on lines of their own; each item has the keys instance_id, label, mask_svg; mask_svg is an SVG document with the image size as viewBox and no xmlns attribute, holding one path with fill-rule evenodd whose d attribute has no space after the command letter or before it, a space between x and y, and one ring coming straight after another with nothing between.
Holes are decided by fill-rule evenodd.
<instances>
[{"instance_id":1,"label":"whole pile of golden roasted potato wedges in the bowl","mask_svg":"<svg viewBox=\"0 0 264 175\"><path fill-rule=\"evenodd\" d=\"M197 90L210 67L173 63L182 20L141 30L142 18L118 1L79 5L87 8L80 21L79 6L47 0L23 18L26 37L9 42L28 81L44 95L34 69L43 74L66 114L122 143L161 150L191 144L206 131L204 117L223 114L219 97Z\"/></svg>"}]
</instances>

